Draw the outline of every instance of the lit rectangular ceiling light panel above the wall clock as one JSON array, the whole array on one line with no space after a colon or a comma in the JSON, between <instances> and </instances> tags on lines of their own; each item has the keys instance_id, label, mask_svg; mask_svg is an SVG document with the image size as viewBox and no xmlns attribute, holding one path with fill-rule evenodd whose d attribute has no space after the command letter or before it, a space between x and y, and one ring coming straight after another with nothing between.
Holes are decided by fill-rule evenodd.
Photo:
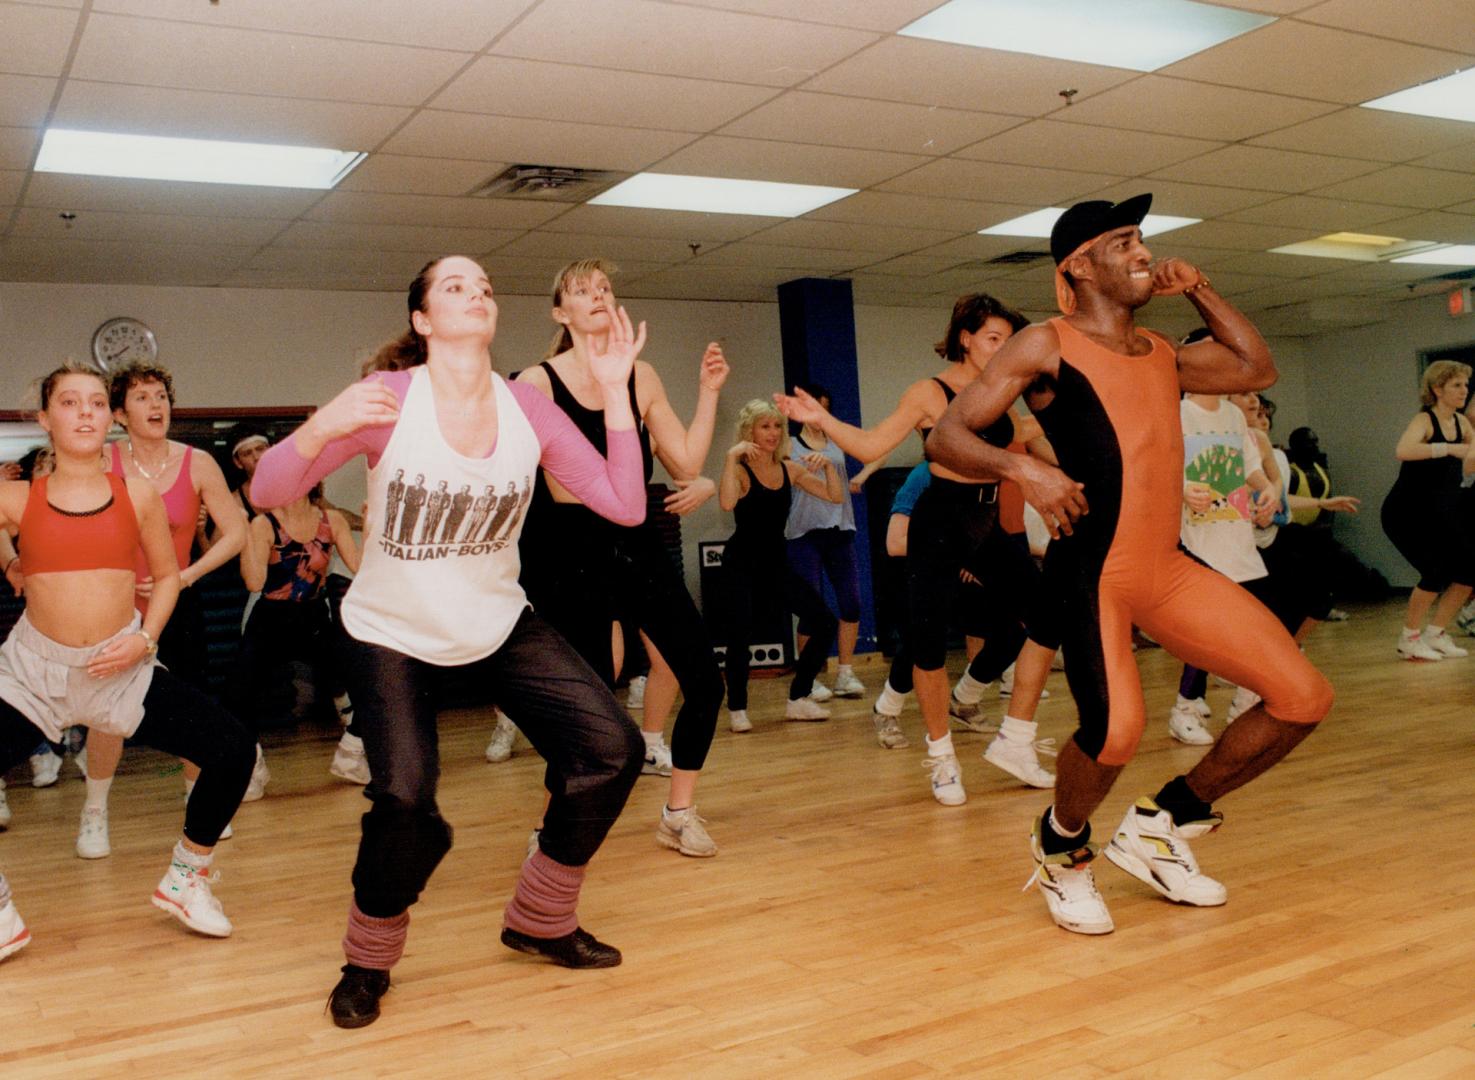
<instances>
[{"instance_id":1,"label":"lit rectangular ceiling light panel above the wall clock","mask_svg":"<svg viewBox=\"0 0 1475 1080\"><path fill-rule=\"evenodd\" d=\"M71 131L50 128L35 161L38 173L187 180L254 187L333 187L364 159L358 150L215 139Z\"/></svg>"}]
</instances>

